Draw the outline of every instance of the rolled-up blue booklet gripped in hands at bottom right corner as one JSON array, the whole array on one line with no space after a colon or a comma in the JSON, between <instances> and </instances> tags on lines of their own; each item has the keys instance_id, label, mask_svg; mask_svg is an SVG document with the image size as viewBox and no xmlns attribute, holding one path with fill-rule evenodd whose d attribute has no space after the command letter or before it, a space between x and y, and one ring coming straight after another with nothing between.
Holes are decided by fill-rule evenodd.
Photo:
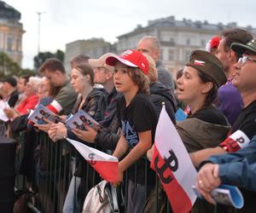
<instances>
[{"instance_id":1,"label":"rolled-up blue booklet gripped in hands at bottom right corner","mask_svg":"<svg viewBox=\"0 0 256 213\"><path fill-rule=\"evenodd\" d=\"M202 199L201 193L196 190L195 186L193 186L193 190L196 196ZM241 209L244 204L242 194L238 187L222 184L218 188L213 189L211 195L217 204L232 205L236 209Z\"/></svg>"}]
</instances>

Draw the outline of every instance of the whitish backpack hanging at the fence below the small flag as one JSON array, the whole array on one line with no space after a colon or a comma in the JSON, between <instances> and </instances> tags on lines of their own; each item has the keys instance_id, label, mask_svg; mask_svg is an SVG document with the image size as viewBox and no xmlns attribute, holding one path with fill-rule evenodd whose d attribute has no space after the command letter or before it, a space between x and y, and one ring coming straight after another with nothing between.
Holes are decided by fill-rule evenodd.
<instances>
[{"instance_id":1,"label":"whitish backpack hanging at the fence below the small flag","mask_svg":"<svg viewBox=\"0 0 256 213\"><path fill-rule=\"evenodd\" d=\"M92 187L84 200L82 213L119 213L116 188L107 181Z\"/></svg>"}]
</instances>

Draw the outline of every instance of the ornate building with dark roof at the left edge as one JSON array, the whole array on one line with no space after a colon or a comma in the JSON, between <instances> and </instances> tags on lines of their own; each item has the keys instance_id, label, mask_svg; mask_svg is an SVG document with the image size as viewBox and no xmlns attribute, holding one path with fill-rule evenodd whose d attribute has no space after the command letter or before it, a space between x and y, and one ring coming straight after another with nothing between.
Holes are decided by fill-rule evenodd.
<instances>
[{"instance_id":1,"label":"ornate building with dark roof at the left edge","mask_svg":"<svg viewBox=\"0 0 256 213\"><path fill-rule=\"evenodd\" d=\"M0 51L3 51L19 66L22 64L23 26L20 12L0 1Z\"/></svg>"}]
</instances>

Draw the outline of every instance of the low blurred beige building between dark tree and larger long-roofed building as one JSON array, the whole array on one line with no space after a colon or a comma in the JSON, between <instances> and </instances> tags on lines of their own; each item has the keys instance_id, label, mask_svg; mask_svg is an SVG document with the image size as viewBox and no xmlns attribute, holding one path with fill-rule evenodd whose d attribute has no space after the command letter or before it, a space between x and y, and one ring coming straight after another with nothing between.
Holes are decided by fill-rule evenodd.
<instances>
[{"instance_id":1,"label":"low blurred beige building between dark tree and larger long-roofed building","mask_svg":"<svg viewBox=\"0 0 256 213\"><path fill-rule=\"evenodd\" d=\"M105 42L102 38L91 38L89 40L77 40L66 44L64 66L70 72L69 61L75 55L85 54L90 58L98 58L105 53L112 52L113 45Z\"/></svg>"}]
</instances>

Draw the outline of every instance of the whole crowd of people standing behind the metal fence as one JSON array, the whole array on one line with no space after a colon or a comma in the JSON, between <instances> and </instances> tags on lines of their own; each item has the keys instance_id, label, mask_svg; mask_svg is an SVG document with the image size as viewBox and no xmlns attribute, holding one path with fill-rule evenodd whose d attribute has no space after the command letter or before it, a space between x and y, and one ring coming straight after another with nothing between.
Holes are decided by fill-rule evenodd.
<instances>
[{"instance_id":1,"label":"whole crowd of people standing behind the metal fence","mask_svg":"<svg viewBox=\"0 0 256 213\"><path fill-rule=\"evenodd\" d=\"M70 61L70 78L55 58L44 62L39 77L5 78L0 93L2 101L8 103L3 111L9 121L1 122L1 134L18 140L20 132L25 132L24 155L29 156L36 152L33 141L38 131L52 143L67 143L68 137L113 154L119 158L119 166L117 180L111 184L119 187L128 171L126 212L154 212L156 200L148 202L150 194L161 191L161 198L166 200L164 189L155 187L155 172L150 169L156 125L165 102L166 112L198 170L195 187L208 201L200 207L202 212L213 212L212 189L223 183L241 188L245 205L237 212L254 212L256 40L238 28L216 36L206 50L191 52L176 81L163 66L160 42L153 36L143 37L137 49L127 49L121 55L106 53L99 59L75 55ZM59 119L33 124L28 115L39 104ZM175 118L179 107L188 116L183 121ZM100 130L86 122L83 128L67 127L68 116L81 109L101 125ZM236 140L234 146L228 140L237 130L250 141L246 147L238 146ZM42 170L50 154L44 144L39 149L38 162L31 165L34 168L24 156L19 171L31 181L29 171L35 170L40 193L46 186ZM76 170L69 181L63 212L81 212L86 194L102 178L71 146L65 149L75 158ZM161 212L165 208L160 208ZM198 208L196 202L192 211Z\"/></svg>"}]
</instances>

